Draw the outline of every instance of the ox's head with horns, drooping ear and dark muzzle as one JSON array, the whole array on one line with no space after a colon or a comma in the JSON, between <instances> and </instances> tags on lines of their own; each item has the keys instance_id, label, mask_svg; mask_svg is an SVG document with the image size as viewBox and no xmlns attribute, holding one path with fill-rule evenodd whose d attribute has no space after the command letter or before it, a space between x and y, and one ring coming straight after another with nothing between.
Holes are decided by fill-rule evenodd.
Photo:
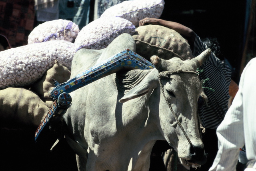
<instances>
[{"instance_id":1,"label":"ox's head with horns, drooping ear and dark muzzle","mask_svg":"<svg viewBox=\"0 0 256 171\"><path fill-rule=\"evenodd\" d=\"M210 53L208 49L186 61L179 58L163 60L152 56L150 59L156 69L119 100L126 102L156 89L150 96L149 108L150 112L158 113L158 129L178 152L182 164L196 168L206 162L197 114L202 82L196 69L206 61Z\"/></svg>"}]
</instances>

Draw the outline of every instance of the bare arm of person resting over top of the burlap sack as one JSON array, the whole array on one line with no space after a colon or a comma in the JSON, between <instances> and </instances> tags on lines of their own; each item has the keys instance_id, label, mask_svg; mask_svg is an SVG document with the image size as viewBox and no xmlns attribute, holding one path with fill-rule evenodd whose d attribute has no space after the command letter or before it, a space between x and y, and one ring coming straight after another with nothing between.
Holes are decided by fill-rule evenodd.
<instances>
[{"instance_id":1,"label":"bare arm of person resting over top of the burlap sack","mask_svg":"<svg viewBox=\"0 0 256 171\"><path fill-rule=\"evenodd\" d=\"M192 29L177 22L171 22L157 18L144 18L143 20L140 20L139 26L145 26L148 24L160 25L175 30L184 38L186 38L186 40L188 40L188 44L190 44L191 48L194 48L196 34Z\"/></svg>"}]
</instances>

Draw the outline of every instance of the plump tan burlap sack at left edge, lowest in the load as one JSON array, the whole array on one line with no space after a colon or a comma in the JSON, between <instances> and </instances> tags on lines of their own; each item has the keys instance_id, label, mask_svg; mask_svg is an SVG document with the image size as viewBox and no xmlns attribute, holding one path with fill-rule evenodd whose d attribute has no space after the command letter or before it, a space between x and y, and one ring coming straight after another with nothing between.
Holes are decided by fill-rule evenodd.
<instances>
[{"instance_id":1,"label":"plump tan burlap sack at left edge, lowest in the load","mask_svg":"<svg viewBox=\"0 0 256 171\"><path fill-rule=\"evenodd\" d=\"M24 124L40 125L49 107L34 92L8 87L0 90L0 117Z\"/></svg>"}]
</instances>

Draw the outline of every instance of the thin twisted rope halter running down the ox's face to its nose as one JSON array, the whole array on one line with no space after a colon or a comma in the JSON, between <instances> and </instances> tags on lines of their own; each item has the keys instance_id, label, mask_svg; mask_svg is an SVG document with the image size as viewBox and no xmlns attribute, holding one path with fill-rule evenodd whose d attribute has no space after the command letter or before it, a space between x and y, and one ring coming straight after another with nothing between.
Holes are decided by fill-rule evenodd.
<instances>
[{"instance_id":1,"label":"thin twisted rope halter running down the ox's face to its nose","mask_svg":"<svg viewBox=\"0 0 256 171\"><path fill-rule=\"evenodd\" d=\"M196 72L186 72L186 73L196 74ZM160 84L160 89L161 89L161 91L162 91L162 94L163 94L163 96L164 96L164 99L165 99L165 101L166 101L168 107L169 107L170 110L172 111L172 115L173 115L174 118L176 119L178 125L180 126L180 129L182 130L183 134L185 135L186 139L188 140L188 143L193 147L193 144L192 144L192 142L190 141L188 135L186 134L184 128L182 127L180 121L178 120L178 117L175 115L175 113L174 113L174 111L173 111L173 109L172 109L171 104L169 103L169 101L167 100L166 96L164 95L164 87L163 87L163 85L162 85L161 78L162 78L162 77L166 77L167 75L170 75L170 74L173 74L173 73L170 73L170 72L160 72L160 73L158 74L158 81L159 81L159 84Z\"/></svg>"}]
</instances>

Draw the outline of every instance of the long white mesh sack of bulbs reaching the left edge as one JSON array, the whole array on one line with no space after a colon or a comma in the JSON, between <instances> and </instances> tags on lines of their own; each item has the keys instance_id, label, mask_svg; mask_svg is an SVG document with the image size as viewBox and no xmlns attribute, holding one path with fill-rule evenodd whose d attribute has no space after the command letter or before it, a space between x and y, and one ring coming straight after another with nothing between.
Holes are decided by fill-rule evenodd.
<instances>
[{"instance_id":1,"label":"long white mesh sack of bulbs reaching the left edge","mask_svg":"<svg viewBox=\"0 0 256 171\"><path fill-rule=\"evenodd\" d=\"M71 70L74 43L52 40L0 52L0 89L34 83L58 60ZM61 74L61 73L60 73Z\"/></svg>"}]
</instances>

